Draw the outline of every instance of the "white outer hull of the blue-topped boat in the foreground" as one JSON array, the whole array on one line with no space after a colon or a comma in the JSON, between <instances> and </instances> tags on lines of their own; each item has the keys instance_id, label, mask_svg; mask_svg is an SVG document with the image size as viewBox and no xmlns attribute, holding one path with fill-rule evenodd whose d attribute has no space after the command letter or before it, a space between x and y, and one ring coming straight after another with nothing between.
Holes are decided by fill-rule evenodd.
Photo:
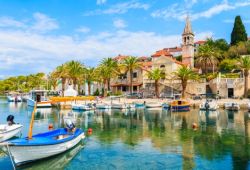
<instances>
[{"instance_id":1,"label":"white outer hull of the blue-topped boat in the foreground","mask_svg":"<svg viewBox=\"0 0 250 170\"><path fill-rule=\"evenodd\" d=\"M9 149L13 161L16 165L22 165L28 162L33 162L43 158L48 158L60 153L63 153L76 146L83 138L84 133L81 133L76 138L65 143L38 145L38 146L15 146L10 145Z\"/></svg>"}]
</instances>

